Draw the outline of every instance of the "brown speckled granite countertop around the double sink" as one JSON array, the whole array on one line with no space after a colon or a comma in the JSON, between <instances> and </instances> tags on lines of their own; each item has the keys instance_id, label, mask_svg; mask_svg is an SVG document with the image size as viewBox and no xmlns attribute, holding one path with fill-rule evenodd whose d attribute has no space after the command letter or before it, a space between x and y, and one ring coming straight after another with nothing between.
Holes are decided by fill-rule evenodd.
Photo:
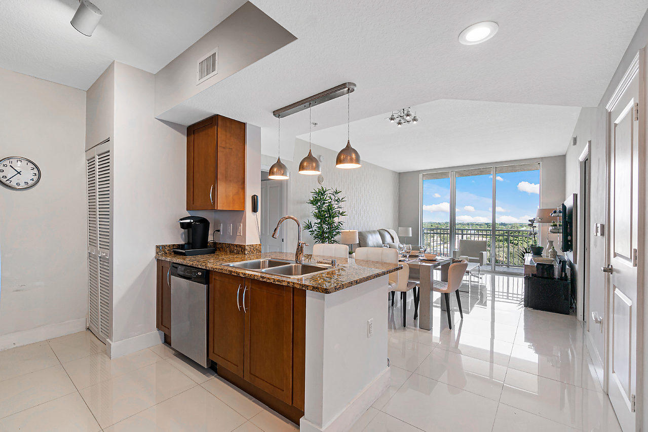
<instances>
[{"instance_id":1,"label":"brown speckled granite countertop around the double sink","mask_svg":"<svg viewBox=\"0 0 648 432\"><path fill-rule=\"evenodd\" d=\"M336 258L338 260L338 266L335 267L335 269L312 276L287 278L240 269L238 267L230 267L226 264L238 261L258 260L260 258L280 258L294 262L294 253L268 252L244 255L239 253L216 251L216 253L208 255L184 256L174 254L170 250L165 249L165 247L159 246L156 247L156 251L156 259L158 260L175 262L177 264L184 264L185 266L199 267L212 271L220 271L221 273L229 273L231 275L238 275L249 279L264 280L266 282L325 294L344 290L350 286L358 285L367 280L376 279L402 269L400 264ZM318 260L330 260L331 258L333 257L304 254L304 264L315 264Z\"/></svg>"}]
</instances>

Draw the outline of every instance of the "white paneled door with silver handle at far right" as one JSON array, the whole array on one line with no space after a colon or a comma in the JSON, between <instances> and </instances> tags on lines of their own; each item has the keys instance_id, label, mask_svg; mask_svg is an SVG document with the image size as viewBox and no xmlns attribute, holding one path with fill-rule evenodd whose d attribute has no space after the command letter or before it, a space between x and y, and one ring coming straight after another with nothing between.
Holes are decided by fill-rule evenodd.
<instances>
[{"instance_id":1,"label":"white paneled door with silver handle at far right","mask_svg":"<svg viewBox=\"0 0 648 432\"><path fill-rule=\"evenodd\" d=\"M626 76L610 115L608 201L608 394L625 432L635 430L637 370L637 248L639 74ZM620 93L620 95L619 95ZM610 271L608 267L608 271Z\"/></svg>"}]
</instances>

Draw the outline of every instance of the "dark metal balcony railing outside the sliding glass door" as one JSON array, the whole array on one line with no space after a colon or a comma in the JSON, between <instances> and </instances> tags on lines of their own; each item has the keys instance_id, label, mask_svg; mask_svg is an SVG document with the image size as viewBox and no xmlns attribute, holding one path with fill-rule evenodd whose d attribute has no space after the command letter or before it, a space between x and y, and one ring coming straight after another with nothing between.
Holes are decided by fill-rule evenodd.
<instances>
[{"instance_id":1,"label":"dark metal balcony railing outside the sliding glass door","mask_svg":"<svg viewBox=\"0 0 648 432\"><path fill-rule=\"evenodd\" d=\"M488 263L491 264L492 231L489 228L457 228L455 233L455 247L459 240L485 240L487 243ZM533 236L526 229L496 229L495 230L495 264L496 266L522 267L524 258L520 251L533 244ZM423 244L430 253L451 256L450 229L449 228L424 228Z\"/></svg>"}]
</instances>

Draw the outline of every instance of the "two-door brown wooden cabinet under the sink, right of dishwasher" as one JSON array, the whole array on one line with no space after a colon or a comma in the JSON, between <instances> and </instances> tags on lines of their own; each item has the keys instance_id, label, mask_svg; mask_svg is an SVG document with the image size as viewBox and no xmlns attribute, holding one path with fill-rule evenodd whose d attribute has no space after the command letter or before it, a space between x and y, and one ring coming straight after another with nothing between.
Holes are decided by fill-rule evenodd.
<instances>
[{"instance_id":1,"label":"two-door brown wooden cabinet under the sink, right of dishwasher","mask_svg":"<svg viewBox=\"0 0 648 432\"><path fill-rule=\"evenodd\" d=\"M298 422L306 291L215 271L210 278L209 358L218 374Z\"/></svg>"}]
</instances>

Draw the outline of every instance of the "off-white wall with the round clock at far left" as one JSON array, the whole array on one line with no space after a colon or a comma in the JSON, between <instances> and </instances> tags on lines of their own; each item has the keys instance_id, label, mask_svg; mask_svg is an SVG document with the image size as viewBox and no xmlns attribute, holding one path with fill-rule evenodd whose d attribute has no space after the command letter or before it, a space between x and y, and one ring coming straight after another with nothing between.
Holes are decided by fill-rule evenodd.
<instances>
[{"instance_id":1,"label":"off-white wall with the round clock at far left","mask_svg":"<svg viewBox=\"0 0 648 432\"><path fill-rule=\"evenodd\" d=\"M86 92L0 69L0 157L40 166L0 187L0 350L86 326Z\"/></svg>"}]
</instances>

